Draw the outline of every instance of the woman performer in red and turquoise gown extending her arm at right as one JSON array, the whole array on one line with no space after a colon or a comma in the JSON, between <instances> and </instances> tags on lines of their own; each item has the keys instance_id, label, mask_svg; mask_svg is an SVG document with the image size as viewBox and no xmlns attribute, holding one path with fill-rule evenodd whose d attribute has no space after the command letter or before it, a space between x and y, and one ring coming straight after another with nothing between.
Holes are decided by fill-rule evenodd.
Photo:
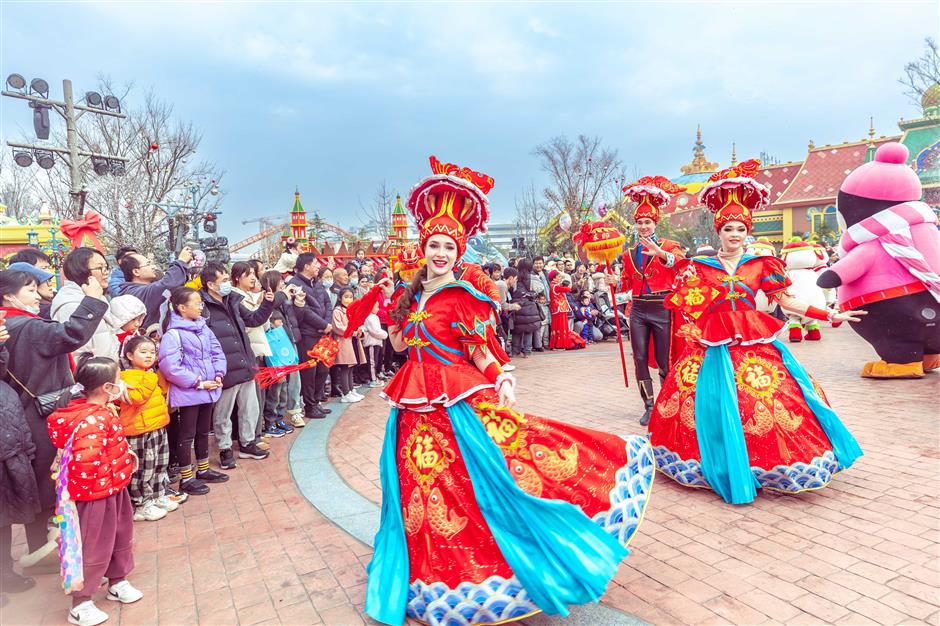
<instances>
[{"instance_id":1,"label":"woman performer in red and turquoise gown extending her arm at right","mask_svg":"<svg viewBox=\"0 0 940 626\"><path fill-rule=\"evenodd\" d=\"M777 340L783 322L757 310L763 291L794 313L835 322L864 312L831 314L793 298L783 263L744 254L751 211L769 192L752 176L752 160L713 175L701 200L715 212L716 257L683 262L667 305L694 324L669 371L650 421L658 469L726 502L751 502L757 488L797 493L826 486L862 451L822 389Z\"/></svg>"}]
</instances>

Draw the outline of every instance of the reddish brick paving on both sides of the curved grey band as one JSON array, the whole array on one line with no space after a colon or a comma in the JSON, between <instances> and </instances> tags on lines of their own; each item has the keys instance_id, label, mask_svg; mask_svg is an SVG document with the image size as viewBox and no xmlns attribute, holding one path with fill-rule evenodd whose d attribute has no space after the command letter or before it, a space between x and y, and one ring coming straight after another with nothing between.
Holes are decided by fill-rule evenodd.
<instances>
[{"instance_id":1,"label":"reddish brick paving on both sides of the curved grey band","mask_svg":"<svg viewBox=\"0 0 940 626\"><path fill-rule=\"evenodd\" d=\"M930 623L938 626L940 375L857 377L870 351L846 328L794 352L816 375L866 455L832 486L729 507L660 480L630 558L603 601L656 624ZM519 360L519 407L618 434L641 432L613 346ZM387 409L372 392L343 416L331 455L378 501ZM316 427L314 425L313 427ZM132 580L143 600L107 624L361 624L371 550L303 500L273 458L240 461L232 480L137 533ZM23 548L18 545L15 554ZM55 576L8 596L0 623L63 624ZM101 594L103 595L103 594ZM101 596L99 596L101 597Z\"/></svg>"}]
</instances>

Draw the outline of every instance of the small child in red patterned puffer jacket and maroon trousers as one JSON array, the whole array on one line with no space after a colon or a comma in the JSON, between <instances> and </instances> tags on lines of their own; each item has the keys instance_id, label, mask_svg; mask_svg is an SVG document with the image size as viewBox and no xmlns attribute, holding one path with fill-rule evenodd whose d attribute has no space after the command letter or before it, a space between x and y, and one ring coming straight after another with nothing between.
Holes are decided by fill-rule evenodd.
<instances>
[{"instance_id":1,"label":"small child in red patterned puffer jacket and maroon trousers","mask_svg":"<svg viewBox=\"0 0 940 626\"><path fill-rule=\"evenodd\" d=\"M47 423L52 444L63 450L57 474L58 506L74 502L78 514L74 532L81 535L81 578L75 572L76 577L68 581L72 592L68 621L94 626L108 619L91 599L102 577L108 579L109 600L126 604L144 595L126 578L134 568L134 507L125 487L136 459L112 406L126 394L117 362L82 354L75 381L59 400L62 408ZM68 500L62 497L64 489ZM61 537L67 556L78 549L71 532L65 528Z\"/></svg>"}]
</instances>

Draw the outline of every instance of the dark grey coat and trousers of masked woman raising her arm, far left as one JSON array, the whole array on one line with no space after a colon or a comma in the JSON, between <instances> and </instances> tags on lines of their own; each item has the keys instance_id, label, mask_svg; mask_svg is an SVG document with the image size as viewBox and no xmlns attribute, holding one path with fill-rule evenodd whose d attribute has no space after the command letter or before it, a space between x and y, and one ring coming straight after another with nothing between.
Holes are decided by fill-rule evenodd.
<instances>
[{"instance_id":1,"label":"dark grey coat and trousers of masked woman raising her arm, far left","mask_svg":"<svg viewBox=\"0 0 940 626\"><path fill-rule=\"evenodd\" d=\"M36 401L20 388L13 376L37 396L75 384L68 355L88 343L107 312L107 302L85 296L65 323L20 315L7 317L10 338L4 347L9 353L7 368L12 374L7 381L20 396L20 405L36 446L32 466L39 489L39 504L43 509L55 506L55 483L52 482L50 468L56 448L49 440L46 420L39 415Z\"/></svg>"}]
</instances>

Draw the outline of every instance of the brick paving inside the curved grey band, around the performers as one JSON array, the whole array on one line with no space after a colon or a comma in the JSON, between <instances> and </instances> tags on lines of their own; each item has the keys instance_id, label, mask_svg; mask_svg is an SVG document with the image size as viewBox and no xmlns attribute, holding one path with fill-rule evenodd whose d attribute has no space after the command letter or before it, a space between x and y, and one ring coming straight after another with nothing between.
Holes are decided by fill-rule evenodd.
<instances>
[{"instance_id":1,"label":"brick paving inside the curved grey band, around the performers","mask_svg":"<svg viewBox=\"0 0 940 626\"><path fill-rule=\"evenodd\" d=\"M858 377L873 358L848 328L791 345L865 456L830 487L731 507L657 476L632 554L603 601L656 624L938 623L940 374ZM641 433L615 346L517 360L519 408L620 435ZM631 372L632 377L632 372ZM386 411L349 410L330 447L339 473L378 502Z\"/></svg>"}]
</instances>

